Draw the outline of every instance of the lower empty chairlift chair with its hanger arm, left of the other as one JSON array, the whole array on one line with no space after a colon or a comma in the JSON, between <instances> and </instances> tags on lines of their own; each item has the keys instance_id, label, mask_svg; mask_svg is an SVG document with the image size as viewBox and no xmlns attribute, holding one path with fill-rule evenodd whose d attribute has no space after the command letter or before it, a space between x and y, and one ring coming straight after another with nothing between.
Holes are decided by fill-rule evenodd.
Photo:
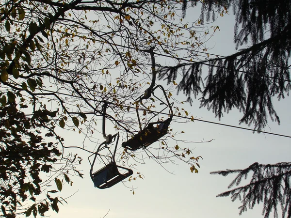
<instances>
[{"instance_id":1,"label":"lower empty chairlift chair with its hanger arm, left of the other","mask_svg":"<svg viewBox=\"0 0 291 218\"><path fill-rule=\"evenodd\" d=\"M100 189L104 189L104 188L109 188L109 187L113 187L115 184L121 182L122 180L126 179L127 177L129 177L130 175L133 174L133 171L131 169L122 167L122 166L118 166L115 162L115 154L116 154L116 149L117 149L117 145L118 145L118 140L119 140L119 133L115 134L115 135L106 135L105 133L105 112L106 112L106 107L107 107L107 103L105 103L103 105L103 137L105 138L105 141L102 142L98 148L97 151L91 155L94 156L94 159L91 163L90 161L90 157L88 157L89 159L89 163L91 165L91 169L90 169L90 177L94 183L94 186ZM114 151L113 154L110 150L110 148L108 147L108 145L110 145L112 142L115 142L115 147L114 147ZM102 167L100 170L93 172L93 166L95 164L95 161L97 159L97 156L99 156L102 159L102 156L100 155L100 152L104 149L108 149L109 152L111 153L111 161L108 164L105 164L104 167ZM104 162L104 160L102 159L102 161ZM104 162L105 163L105 162ZM125 172L123 172L125 171Z\"/></svg>"}]
</instances>

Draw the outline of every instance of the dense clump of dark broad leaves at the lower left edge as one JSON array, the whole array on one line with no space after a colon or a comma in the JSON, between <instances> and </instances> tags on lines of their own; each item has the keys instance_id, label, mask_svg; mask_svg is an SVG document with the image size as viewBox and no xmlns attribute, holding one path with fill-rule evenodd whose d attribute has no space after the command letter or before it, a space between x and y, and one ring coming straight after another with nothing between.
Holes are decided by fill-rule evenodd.
<instances>
[{"instance_id":1,"label":"dense clump of dark broad leaves at the lower left edge","mask_svg":"<svg viewBox=\"0 0 291 218\"><path fill-rule=\"evenodd\" d=\"M21 103L20 105L22 108L25 107ZM42 137L42 122L48 117L38 116L32 121L32 118L16 109L15 102L7 102L0 110L0 118L0 199L4 217L8 215L11 217L21 202L28 199L35 202L42 190L49 187L53 176L56 181L60 181L57 177L63 177L68 183L70 182L66 174L68 170L76 171L81 176L74 166L81 162L80 157L67 156L60 160L62 153L57 148L57 143L53 142L54 140L46 142L55 136L53 129L49 129L45 138ZM42 173L48 174L47 177L41 176ZM61 188L57 188L61 191ZM43 216L49 210L49 206L58 211L57 203L60 200L58 197L52 198L49 194L56 192L58 191L47 190L47 200L38 202L37 206L34 203L27 208L25 214L29 216L33 212L36 216L38 211Z\"/></svg>"}]
</instances>

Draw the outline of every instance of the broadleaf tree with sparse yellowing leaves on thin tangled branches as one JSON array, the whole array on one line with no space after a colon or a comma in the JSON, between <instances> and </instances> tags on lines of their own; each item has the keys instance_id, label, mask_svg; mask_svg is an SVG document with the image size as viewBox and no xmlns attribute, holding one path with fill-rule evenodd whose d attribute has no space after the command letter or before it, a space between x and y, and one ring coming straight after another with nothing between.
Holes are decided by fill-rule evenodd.
<instances>
[{"instance_id":1,"label":"broadleaf tree with sparse yellowing leaves on thin tangled branches","mask_svg":"<svg viewBox=\"0 0 291 218\"><path fill-rule=\"evenodd\" d=\"M2 216L44 216L49 207L58 212L63 200L55 193L72 185L72 175L82 177L81 157L68 149L94 153L104 102L124 141L141 127L136 109L142 126L169 116L166 109L159 113L154 98L140 105L136 99L150 84L149 47L178 63L181 48L192 57L210 36L202 25L183 21L182 6L176 0L0 1ZM169 89L162 98L174 101ZM181 112L188 115L176 106ZM66 131L80 134L83 143L66 145ZM178 138L168 143L179 134L172 127L168 132L146 154L160 164L178 158L197 172L199 157ZM139 154L118 150L116 159L132 167L144 161Z\"/></svg>"}]
</instances>

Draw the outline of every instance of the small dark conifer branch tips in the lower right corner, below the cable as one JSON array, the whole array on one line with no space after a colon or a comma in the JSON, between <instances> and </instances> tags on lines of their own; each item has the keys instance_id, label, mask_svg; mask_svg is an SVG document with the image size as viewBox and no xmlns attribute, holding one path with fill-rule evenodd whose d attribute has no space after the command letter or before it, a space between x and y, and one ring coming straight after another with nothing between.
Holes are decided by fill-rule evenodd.
<instances>
[{"instance_id":1,"label":"small dark conifer branch tips in the lower right corner, below the cable","mask_svg":"<svg viewBox=\"0 0 291 218\"><path fill-rule=\"evenodd\" d=\"M218 197L231 196L232 201L239 200L242 205L239 207L240 215L253 209L256 204L263 203L262 214L268 218L272 211L274 217L278 217L278 210L282 211L282 218L291 217L291 163L258 164L253 163L243 170L214 171L211 174L227 176L231 173L237 174L228 188L240 186L242 179L247 179L251 174L252 178L246 185L233 188L223 192Z\"/></svg>"}]
</instances>

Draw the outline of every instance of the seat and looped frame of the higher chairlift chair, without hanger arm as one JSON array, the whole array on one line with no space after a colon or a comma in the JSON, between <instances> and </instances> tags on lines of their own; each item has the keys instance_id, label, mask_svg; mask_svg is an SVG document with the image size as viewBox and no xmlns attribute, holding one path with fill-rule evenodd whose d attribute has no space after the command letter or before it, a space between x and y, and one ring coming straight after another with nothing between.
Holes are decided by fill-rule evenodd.
<instances>
[{"instance_id":1,"label":"seat and looped frame of the higher chairlift chair, without hanger arm","mask_svg":"<svg viewBox=\"0 0 291 218\"><path fill-rule=\"evenodd\" d=\"M167 98L167 95L166 95L166 93L161 85L157 85L155 88L153 88L151 93L153 93L153 91L155 89L157 89L158 87L162 89L162 92L166 98L167 106L169 107L169 109L171 111L170 117L168 119L166 119L165 121L149 123L144 129L141 129L141 131L139 133L132 136L131 139L129 139L125 142L122 142L122 147L124 147L130 151L136 151L140 148L146 148L149 145L151 145L152 143L161 139L164 135L166 135L168 133L168 126L170 125L172 118L173 118L172 105L170 104L170 102ZM140 97L140 99L147 99L149 97L150 97L150 95L149 96L147 95L146 97L144 97L144 96ZM159 99L159 100L161 101L161 99ZM138 109L136 110L136 112L137 112L137 116L138 116L139 125L141 126ZM158 126L155 127L154 125L158 125Z\"/></svg>"}]
</instances>

